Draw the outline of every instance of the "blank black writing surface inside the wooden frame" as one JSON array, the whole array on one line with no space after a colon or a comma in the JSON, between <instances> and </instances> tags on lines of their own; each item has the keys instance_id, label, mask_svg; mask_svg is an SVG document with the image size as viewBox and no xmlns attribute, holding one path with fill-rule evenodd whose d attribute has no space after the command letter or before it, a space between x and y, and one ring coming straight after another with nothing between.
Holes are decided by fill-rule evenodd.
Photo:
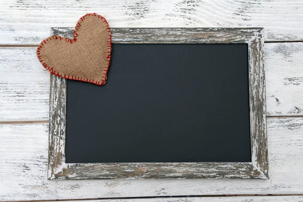
<instances>
[{"instance_id":1,"label":"blank black writing surface inside the wooden frame","mask_svg":"<svg viewBox=\"0 0 303 202\"><path fill-rule=\"evenodd\" d=\"M247 44L112 44L67 81L66 163L250 162Z\"/></svg>"}]
</instances>

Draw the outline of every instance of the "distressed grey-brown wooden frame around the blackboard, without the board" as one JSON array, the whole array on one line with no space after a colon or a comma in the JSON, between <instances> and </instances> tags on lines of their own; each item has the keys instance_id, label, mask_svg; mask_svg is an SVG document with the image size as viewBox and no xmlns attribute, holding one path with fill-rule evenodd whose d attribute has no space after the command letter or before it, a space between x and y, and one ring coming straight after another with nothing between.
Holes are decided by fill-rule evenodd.
<instances>
[{"instance_id":1,"label":"distressed grey-brown wooden frame around the blackboard, without the board","mask_svg":"<svg viewBox=\"0 0 303 202\"><path fill-rule=\"evenodd\" d=\"M66 79L51 75L48 179L268 179L263 28L112 28L112 43L247 43L251 162L65 163ZM73 38L71 28L52 28Z\"/></svg>"}]
</instances>

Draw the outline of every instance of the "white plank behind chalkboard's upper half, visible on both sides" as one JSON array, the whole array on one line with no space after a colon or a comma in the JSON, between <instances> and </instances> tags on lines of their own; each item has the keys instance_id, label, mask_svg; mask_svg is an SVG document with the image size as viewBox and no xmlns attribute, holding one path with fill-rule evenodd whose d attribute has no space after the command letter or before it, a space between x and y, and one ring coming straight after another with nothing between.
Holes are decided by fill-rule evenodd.
<instances>
[{"instance_id":1,"label":"white plank behind chalkboard's upper half, visible on both sides","mask_svg":"<svg viewBox=\"0 0 303 202\"><path fill-rule=\"evenodd\" d=\"M268 116L303 115L303 42L265 43ZM0 47L0 121L48 120L49 73L35 47Z\"/></svg>"}]
</instances>

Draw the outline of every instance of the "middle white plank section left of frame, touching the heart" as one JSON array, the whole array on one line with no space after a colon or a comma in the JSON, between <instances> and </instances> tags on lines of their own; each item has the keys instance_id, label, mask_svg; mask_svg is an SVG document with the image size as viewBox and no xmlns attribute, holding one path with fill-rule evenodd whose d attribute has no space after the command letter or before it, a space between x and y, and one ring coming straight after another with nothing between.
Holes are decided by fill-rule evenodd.
<instances>
[{"instance_id":1,"label":"middle white plank section left of frame, touching the heart","mask_svg":"<svg viewBox=\"0 0 303 202\"><path fill-rule=\"evenodd\" d=\"M49 73L35 49L0 48L0 121L48 120Z\"/></svg>"}]
</instances>

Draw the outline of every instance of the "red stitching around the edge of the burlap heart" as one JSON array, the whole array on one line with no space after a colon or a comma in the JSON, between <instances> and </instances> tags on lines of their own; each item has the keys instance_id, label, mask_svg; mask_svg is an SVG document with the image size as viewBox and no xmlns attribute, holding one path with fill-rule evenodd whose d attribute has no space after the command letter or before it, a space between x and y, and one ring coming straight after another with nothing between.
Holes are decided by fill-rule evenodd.
<instances>
[{"instance_id":1,"label":"red stitching around the edge of the burlap heart","mask_svg":"<svg viewBox=\"0 0 303 202\"><path fill-rule=\"evenodd\" d=\"M104 69L104 74L103 74L103 76L102 76L102 78L105 78L105 79L103 79L102 80L102 82L99 82L99 81L95 81L95 80L91 80L91 79L89 79L88 80L88 78L83 78L83 77L74 77L73 75L72 76L70 76L70 75L62 75L62 74L59 74L59 72L56 72L53 68L51 68L51 67L49 67L48 65L46 65L45 63L43 63L43 60L39 60L39 62L42 64L42 66L45 68L45 69L47 69L49 72L51 72L51 74L54 74L54 75L56 75L56 76L60 76L60 77L62 77L62 78L65 78L65 79L71 79L71 80L80 80L80 81L84 81L84 82L88 82L88 83L94 83L94 84L97 84L97 85L104 85L105 84L105 82L106 82L106 78L107 78L107 73L108 73L108 68L109 68L109 66L110 66L110 59L111 59L111 50L112 50L112 36L111 36L111 28L109 27L109 23L107 22L107 20L104 18L104 17L102 17L102 16L100 16L100 15L98 15L98 14L96 14L96 13L89 13L89 14L86 14L85 16L83 16L83 17L81 17L80 18L80 20L81 21L83 21L83 20L85 20L85 17L86 16L90 16L90 15L94 15L94 16L97 16L98 18L101 18L101 20L103 20L102 22L104 22L104 23L106 23L106 26L107 26L107 32L108 32L108 47L109 47L109 49L110 49L110 51L108 51L107 52L107 56L106 56L106 61L108 61L108 65L105 67L105 69ZM78 30L79 29L79 27L81 26L81 24L79 23L80 22L80 20L77 22L77 24L76 24L76 27L75 27L75 29L76 30ZM60 39L60 40L62 40L62 39L65 39L65 41L66 42L70 42L71 44L73 44L73 42L76 42L77 41L77 36L79 35L77 32L76 32L76 30L74 31L74 38L73 38L73 40L71 40L71 39L68 39L68 38L65 38L65 37L61 37L61 36L57 36L57 35L53 35L53 36L50 36L50 37L48 37L48 38L46 38L45 40L48 42L48 40L56 40L56 39ZM39 45L38 45L38 47L37 47L37 56L38 56L38 59L40 59L41 58L41 56L40 56L40 50L41 50L41 48L42 48L42 46L44 45L44 44L46 44L46 41L45 40L43 40ZM43 42L44 42L44 44L43 44Z\"/></svg>"}]
</instances>

